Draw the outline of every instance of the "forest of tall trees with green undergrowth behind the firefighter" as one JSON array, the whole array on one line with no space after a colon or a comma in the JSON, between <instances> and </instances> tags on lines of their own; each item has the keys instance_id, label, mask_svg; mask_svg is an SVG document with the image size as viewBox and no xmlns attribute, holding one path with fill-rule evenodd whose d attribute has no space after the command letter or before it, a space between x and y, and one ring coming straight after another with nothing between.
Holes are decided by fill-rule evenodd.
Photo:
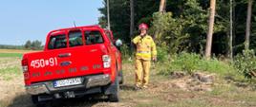
<instances>
[{"instance_id":1,"label":"forest of tall trees with green undergrowth behind the firefighter","mask_svg":"<svg viewBox=\"0 0 256 107\"><path fill-rule=\"evenodd\" d=\"M107 1L98 9L101 27L108 27ZM253 0L109 0L110 28L125 43L123 58L130 59L139 24L149 25L158 60L166 63L161 74L206 71L253 79L255 7Z\"/></svg>"}]
</instances>

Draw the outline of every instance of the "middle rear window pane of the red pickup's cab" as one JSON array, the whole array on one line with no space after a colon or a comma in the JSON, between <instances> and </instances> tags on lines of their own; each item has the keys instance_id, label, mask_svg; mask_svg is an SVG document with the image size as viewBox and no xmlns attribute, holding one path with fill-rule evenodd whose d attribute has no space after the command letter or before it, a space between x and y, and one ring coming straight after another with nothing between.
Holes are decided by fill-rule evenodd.
<instances>
[{"instance_id":1,"label":"middle rear window pane of the red pickup's cab","mask_svg":"<svg viewBox=\"0 0 256 107\"><path fill-rule=\"evenodd\" d=\"M82 41L82 32L81 31L72 31L69 33L69 44L70 46L83 45Z\"/></svg>"}]
</instances>

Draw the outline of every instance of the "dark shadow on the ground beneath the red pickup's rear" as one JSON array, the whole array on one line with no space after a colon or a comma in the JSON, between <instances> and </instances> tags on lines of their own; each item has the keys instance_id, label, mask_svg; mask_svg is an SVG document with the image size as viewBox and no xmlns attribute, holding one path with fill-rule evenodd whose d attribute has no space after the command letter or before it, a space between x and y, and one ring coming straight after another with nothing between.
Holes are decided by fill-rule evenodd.
<instances>
[{"instance_id":1,"label":"dark shadow on the ground beneath the red pickup's rear","mask_svg":"<svg viewBox=\"0 0 256 107\"><path fill-rule=\"evenodd\" d=\"M98 102L107 102L102 95L89 95L81 98L54 99L46 104L46 107L92 107ZM7 107L36 107L30 95L20 95L10 101Z\"/></svg>"}]
</instances>

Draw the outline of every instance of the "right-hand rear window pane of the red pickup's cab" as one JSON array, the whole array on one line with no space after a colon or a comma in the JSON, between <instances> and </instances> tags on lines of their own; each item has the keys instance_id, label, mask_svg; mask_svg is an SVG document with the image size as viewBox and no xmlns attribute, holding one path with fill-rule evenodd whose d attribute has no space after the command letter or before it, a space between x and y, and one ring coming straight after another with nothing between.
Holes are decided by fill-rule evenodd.
<instances>
[{"instance_id":1,"label":"right-hand rear window pane of the red pickup's cab","mask_svg":"<svg viewBox=\"0 0 256 107\"><path fill-rule=\"evenodd\" d=\"M103 38L99 31L85 31L84 35L86 45L96 45L103 43Z\"/></svg>"}]
</instances>

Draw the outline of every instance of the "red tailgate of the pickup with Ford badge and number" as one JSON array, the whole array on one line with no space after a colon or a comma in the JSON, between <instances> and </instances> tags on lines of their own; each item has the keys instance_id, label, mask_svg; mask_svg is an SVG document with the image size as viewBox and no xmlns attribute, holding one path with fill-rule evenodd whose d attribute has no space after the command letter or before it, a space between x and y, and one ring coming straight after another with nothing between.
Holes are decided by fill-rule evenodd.
<instances>
[{"instance_id":1,"label":"red tailgate of the pickup with Ford badge and number","mask_svg":"<svg viewBox=\"0 0 256 107\"><path fill-rule=\"evenodd\" d=\"M31 83L103 73L102 45L83 45L28 55Z\"/></svg>"}]
</instances>

